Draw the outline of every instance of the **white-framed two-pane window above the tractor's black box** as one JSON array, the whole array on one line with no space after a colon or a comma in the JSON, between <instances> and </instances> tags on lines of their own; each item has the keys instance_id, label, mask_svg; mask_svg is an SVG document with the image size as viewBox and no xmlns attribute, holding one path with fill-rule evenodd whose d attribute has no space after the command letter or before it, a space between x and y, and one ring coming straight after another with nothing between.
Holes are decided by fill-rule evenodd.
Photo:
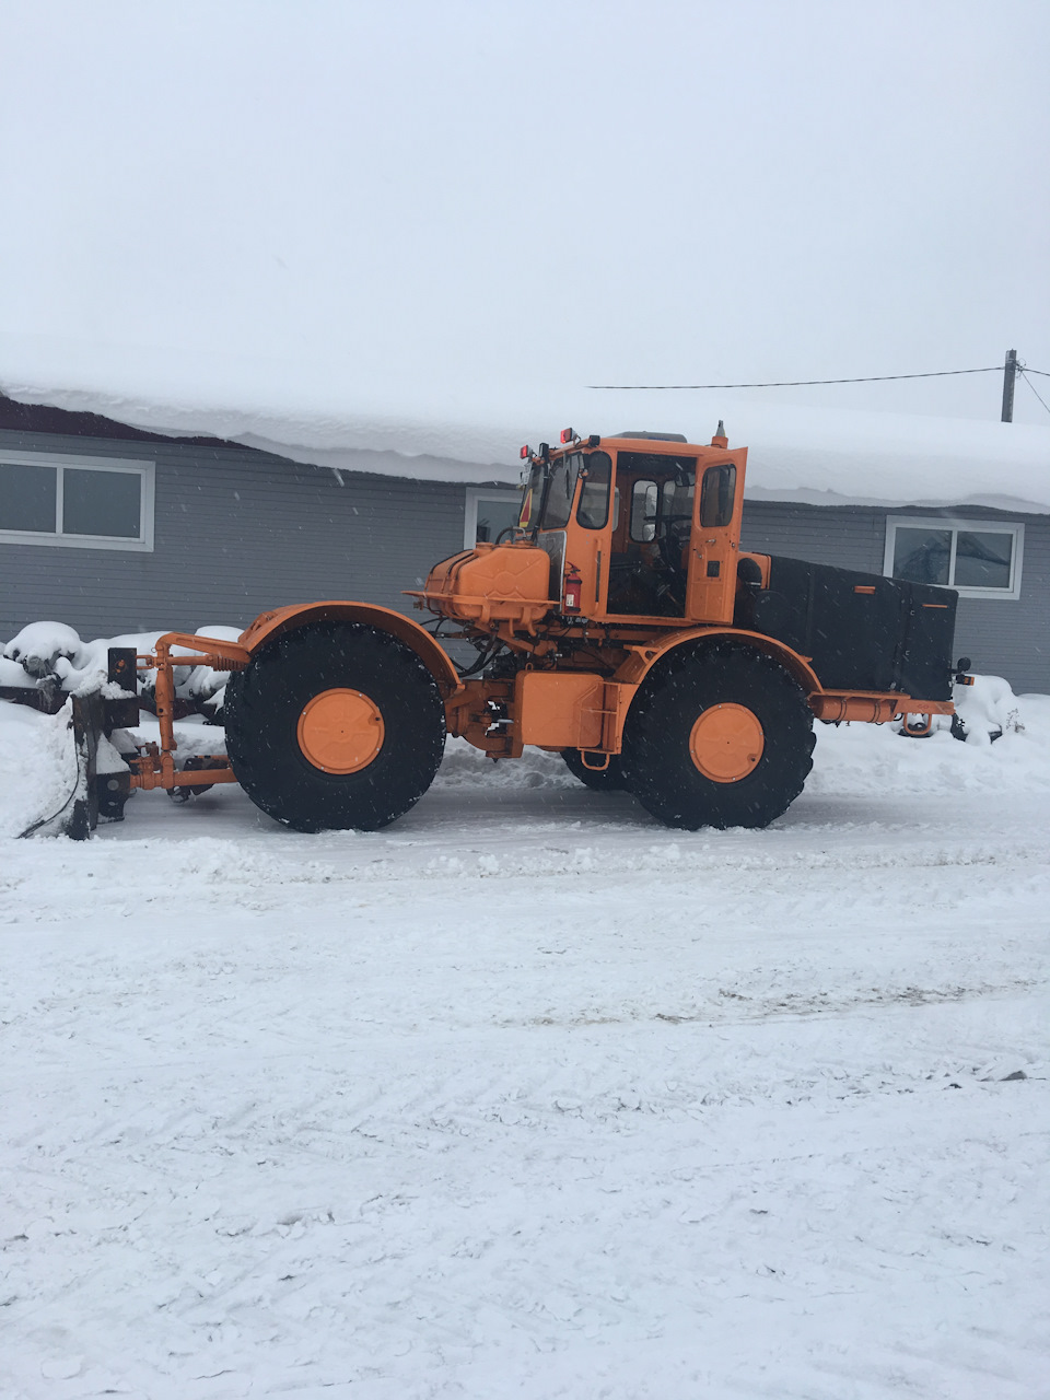
<instances>
[{"instance_id":1,"label":"white-framed two-pane window above the tractor's black box","mask_svg":"<svg viewBox=\"0 0 1050 1400\"><path fill-rule=\"evenodd\" d=\"M1025 526L1000 521L893 515L886 521L883 573L911 584L942 584L963 598L1021 598Z\"/></svg>"}]
</instances>

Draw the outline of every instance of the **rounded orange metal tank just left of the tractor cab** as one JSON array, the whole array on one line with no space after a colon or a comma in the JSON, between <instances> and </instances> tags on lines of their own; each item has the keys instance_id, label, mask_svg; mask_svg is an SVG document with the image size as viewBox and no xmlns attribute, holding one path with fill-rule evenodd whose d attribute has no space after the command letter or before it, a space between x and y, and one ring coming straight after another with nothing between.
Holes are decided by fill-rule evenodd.
<instances>
[{"instance_id":1,"label":"rounded orange metal tank just left of the tractor cab","mask_svg":"<svg viewBox=\"0 0 1050 1400\"><path fill-rule=\"evenodd\" d=\"M477 543L435 564L417 598L441 617L458 622L510 623L532 631L556 606L547 596L550 559L526 540Z\"/></svg>"}]
</instances>

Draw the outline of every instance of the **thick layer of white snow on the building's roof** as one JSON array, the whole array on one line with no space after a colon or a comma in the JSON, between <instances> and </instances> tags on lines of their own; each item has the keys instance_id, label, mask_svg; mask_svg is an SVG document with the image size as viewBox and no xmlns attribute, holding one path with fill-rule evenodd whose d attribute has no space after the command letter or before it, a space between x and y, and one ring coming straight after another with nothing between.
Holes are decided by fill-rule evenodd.
<instances>
[{"instance_id":1,"label":"thick layer of white snow on the building's roof","mask_svg":"<svg viewBox=\"0 0 1050 1400\"><path fill-rule=\"evenodd\" d=\"M87 389L8 382L21 403L98 413L172 435L210 435L336 470L421 480L517 484L519 447L557 441L561 427L685 433L707 442L718 419L746 445L748 493L818 505L986 505L1050 514L1050 428L902 413L790 409L731 396L654 391L545 395L543 403L406 412L294 413L200 407Z\"/></svg>"}]
</instances>

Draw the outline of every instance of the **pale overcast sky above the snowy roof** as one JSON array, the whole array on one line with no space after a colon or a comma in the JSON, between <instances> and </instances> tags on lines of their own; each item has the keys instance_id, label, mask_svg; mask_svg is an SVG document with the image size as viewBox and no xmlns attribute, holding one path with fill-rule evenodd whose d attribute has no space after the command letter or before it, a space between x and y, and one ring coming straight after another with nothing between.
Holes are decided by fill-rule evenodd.
<instances>
[{"instance_id":1,"label":"pale overcast sky above the snowy roof","mask_svg":"<svg viewBox=\"0 0 1050 1400\"><path fill-rule=\"evenodd\" d=\"M1050 370L1047 0L0 17L7 382L610 431L587 385ZM995 420L1001 375L759 396Z\"/></svg>"}]
</instances>

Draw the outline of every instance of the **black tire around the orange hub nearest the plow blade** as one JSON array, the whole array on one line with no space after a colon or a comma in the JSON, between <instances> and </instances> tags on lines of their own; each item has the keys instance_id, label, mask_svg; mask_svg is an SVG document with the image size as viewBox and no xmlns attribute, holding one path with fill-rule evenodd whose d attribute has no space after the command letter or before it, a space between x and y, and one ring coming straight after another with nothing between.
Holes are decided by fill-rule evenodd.
<instances>
[{"instance_id":1,"label":"black tire around the orange hub nearest the plow blade","mask_svg":"<svg viewBox=\"0 0 1050 1400\"><path fill-rule=\"evenodd\" d=\"M382 718L382 743L356 773L328 773L300 746L300 717L326 690L361 692ZM389 633L309 623L252 658L227 686L227 752L263 812L297 832L374 832L403 816L434 780L445 711L434 678Z\"/></svg>"}]
</instances>

